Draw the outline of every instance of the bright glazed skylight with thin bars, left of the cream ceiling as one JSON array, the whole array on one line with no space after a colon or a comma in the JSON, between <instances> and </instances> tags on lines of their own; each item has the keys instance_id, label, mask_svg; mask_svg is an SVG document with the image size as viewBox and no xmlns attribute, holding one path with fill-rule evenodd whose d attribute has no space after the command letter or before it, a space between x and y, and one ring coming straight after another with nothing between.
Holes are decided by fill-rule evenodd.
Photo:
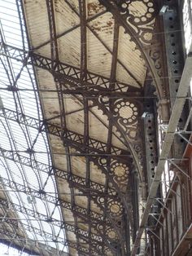
<instances>
[{"instance_id":1,"label":"bright glazed skylight with thin bars, left of the cream ceiling","mask_svg":"<svg viewBox=\"0 0 192 256\"><path fill-rule=\"evenodd\" d=\"M28 50L20 4L19 0L0 0L1 47L7 43ZM50 173L49 143L46 132L41 131L41 104L33 67L12 60L8 53L0 55L0 96L0 179L8 206L16 212L27 239L63 255L68 252L66 235L55 178ZM9 110L15 112L15 120L5 115ZM28 126L27 121L20 122L25 115L38 120L39 130ZM40 163L50 168L42 171Z\"/></svg>"}]
</instances>

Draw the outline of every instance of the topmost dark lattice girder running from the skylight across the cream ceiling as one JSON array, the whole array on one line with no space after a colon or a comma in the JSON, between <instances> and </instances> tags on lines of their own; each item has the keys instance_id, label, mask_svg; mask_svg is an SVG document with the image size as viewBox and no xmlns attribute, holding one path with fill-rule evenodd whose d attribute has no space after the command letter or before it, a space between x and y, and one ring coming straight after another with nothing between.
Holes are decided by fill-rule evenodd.
<instances>
[{"instance_id":1,"label":"topmost dark lattice girder running from the skylight across the cream ceiling","mask_svg":"<svg viewBox=\"0 0 192 256\"><path fill-rule=\"evenodd\" d=\"M81 84L81 68L76 68L72 65L64 64L59 62L59 60L51 60L45 56L37 55L33 51L24 51L15 46L9 46L3 42L0 42L0 55L21 61L24 64L33 65L37 68L46 69L50 73L55 74L55 77L57 77L62 82L70 84L69 88L71 90L75 90L77 87L78 89L84 89L85 91L94 89L107 92L109 89L109 78L99 76L95 73L87 72L86 79L83 81L83 84ZM134 93L141 93L141 89L122 82L116 82L115 86L116 90L118 89L119 91L121 91L121 87L124 88L124 86L126 86L130 93L131 91Z\"/></svg>"}]
</instances>

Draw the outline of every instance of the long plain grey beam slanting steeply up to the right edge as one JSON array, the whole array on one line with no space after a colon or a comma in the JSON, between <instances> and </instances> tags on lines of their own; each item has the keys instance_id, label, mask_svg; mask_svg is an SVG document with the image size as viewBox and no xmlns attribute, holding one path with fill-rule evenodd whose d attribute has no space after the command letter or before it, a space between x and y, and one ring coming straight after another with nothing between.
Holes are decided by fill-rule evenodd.
<instances>
[{"instance_id":1,"label":"long plain grey beam slanting steeply up to the right edge","mask_svg":"<svg viewBox=\"0 0 192 256\"><path fill-rule=\"evenodd\" d=\"M184 107L185 99L187 97L187 93L190 87L191 70L192 70L192 55L190 53L185 61L185 68L182 73L181 82L178 88L175 103L172 107L172 114L169 120L168 130L165 135L162 151L159 156L158 165L155 169L155 177L151 183L151 189L146 201L146 208L142 214L142 221L140 223L140 227L137 231L137 237L133 245L133 250L131 254L132 256L137 254L137 248L139 247L140 240L142 238L142 232L145 230L146 223L149 218L149 214L151 213L151 205L154 202L157 189L159 188L159 183L161 181L161 174L163 173L163 170L164 170L164 164L165 164L165 161L167 161L169 152L172 148L174 135L177 130L177 125L181 117L182 109Z\"/></svg>"}]
</instances>

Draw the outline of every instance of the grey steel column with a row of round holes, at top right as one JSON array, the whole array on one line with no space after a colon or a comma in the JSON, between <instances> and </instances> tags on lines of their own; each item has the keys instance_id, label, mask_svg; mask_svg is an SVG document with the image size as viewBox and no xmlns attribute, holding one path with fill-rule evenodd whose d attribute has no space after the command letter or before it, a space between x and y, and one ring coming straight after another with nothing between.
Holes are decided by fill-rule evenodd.
<instances>
[{"instance_id":1,"label":"grey steel column with a row of round holes, at top right","mask_svg":"<svg viewBox=\"0 0 192 256\"><path fill-rule=\"evenodd\" d=\"M181 80L181 74L184 67L184 54L182 45L182 34L179 7L176 0L164 0L164 6L167 10L162 13L164 22L164 41L166 46L167 66L168 66L168 84L170 93L170 107L172 111L176 99L178 86ZM186 106L185 106L186 108ZM181 129L185 122L185 108L179 120L178 128ZM180 158L185 150L184 140L174 139L172 153L174 157Z\"/></svg>"}]
</instances>

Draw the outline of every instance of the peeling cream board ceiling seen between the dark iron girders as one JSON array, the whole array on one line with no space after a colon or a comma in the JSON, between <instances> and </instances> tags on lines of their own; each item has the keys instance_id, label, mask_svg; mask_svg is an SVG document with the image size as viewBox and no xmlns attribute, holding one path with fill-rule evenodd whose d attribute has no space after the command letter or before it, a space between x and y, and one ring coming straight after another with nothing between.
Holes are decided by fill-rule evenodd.
<instances>
[{"instance_id":1,"label":"peeling cream board ceiling seen between the dark iron girders","mask_svg":"<svg viewBox=\"0 0 192 256\"><path fill-rule=\"evenodd\" d=\"M69 4L68 4L69 3ZM86 0L86 16L87 18L93 18L94 15L98 15L105 8L98 3L98 0ZM72 7L70 7L70 5ZM59 37L57 40L58 43L58 52L59 52L59 61L70 64L72 66L81 68L81 27L80 18L79 18L79 1L71 0L71 1L62 1L55 0L55 24L56 24L56 32L57 35L61 35L64 33L62 37ZM50 27L49 20L47 16L46 10L46 1L38 0L36 2L27 0L24 8L26 9L26 17L28 23L28 32L30 35L30 42L33 47L41 45L50 39ZM73 8L73 10L72 10ZM141 1L134 1L130 4L130 13L136 15L137 17L142 17L146 13L146 6ZM38 24L41 24L38 25ZM114 74L111 74L111 64L112 57L111 51L114 51L114 24L115 20L112 17L110 12L106 12L103 15L99 15L97 18L93 20L89 20L88 26L86 28L86 64L87 70L91 73L96 73L103 77L108 77L111 79L116 79L118 82L124 82L128 85L139 88L142 87L146 78L146 65L145 61L141 57L141 52L137 50L137 47L134 42L131 42L131 38L129 35L124 33L124 29L120 27L119 38L116 38L118 41L118 51L117 51L117 60L116 68L114 68ZM151 22L152 24L152 22ZM68 30L71 30L68 32ZM146 34L147 39L151 39L151 34ZM50 57L50 43L46 46L42 46L37 50L37 53L41 55L46 55ZM50 73L47 73L45 70L40 70L36 68L38 86L41 91L41 104L43 108L44 118L52 118L56 117L60 114L59 107L59 99L58 94L56 92L47 92L45 90L55 90L55 81ZM115 77L115 78L114 78ZM97 81L97 78L94 78L94 82ZM70 88L70 85L66 86ZM85 88L84 88L85 89ZM125 88L124 90L127 90ZM86 90L85 90L86 91ZM90 91L90 90L89 90ZM87 90L87 92L89 92ZM68 130L72 130L80 135L85 135L85 111L81 110L83 108L83 97L78 95L76 97L72 95L63 95L63 104L64 104L64 112L68 113L65 117L66 126ZM97 107L92 106L98 100L99 104ZM113 104L116 104L118 99L114 99ZM124 99L124 105L116 105L118 111L116 116L123 118L124 120L129 120L130 117L133 116L133 109L129 108L129 104L126 105L127 100ZM114 113L111 113L114 117L112 119L112 124L109 123L109 117L107 114L103 113L103 110L100 108L102 106L103 109L107 108L102 102L101 98L98 96L94 96L94 99L89 99L89 124L87 126L87 130L89 130L89 136L92 139L97 139L103 143L107 143L108 141L108 129L109 126L112 125L112 135L111 135L111 143L112 146L116 146L118 148L123 149L125 154L128 154L128 148L124 146L122 142L120 134L120 130L116 129L116 123L119 121L117 117L115 117ZM114 111L116 112L116 108ZM107 110L108 112L108 110ZM137 116L137 109L134 109L135 115ZM110 113L110 111L109 111ZM109 115L110 116L110 115ZM60 118L56 117L51 121L53 124L58 124L61 126ZM118 123L118 126L121 126ZM121 126L122 128L123 126ZM135 127L137 128L137 122L135 123ZM63 127L62 127L63 128ZM126 134L129 130L124 130L122 128L123 133ZM134 132L133 132L134 133ZM134 134L132 134L135 136ZM73 135L74 139L75 135ZM93 161L89 160L89 175L87 174L87 166L88 161L85 157L73 156L70 157L70 161L68 161L68 157L66 156L66 148L63 146L62 139L56 137L54 135L49 135L50 138L50 148L52 152L53 164L56 168L60 170L70 171L72 169L72 174L78 175L81 178L88 178L90 182L99 183L103 186L103 188L114 188L114 183L116 185L120 185L119 181L116 182L114 180L109 180L106 178L106 174L103 174L103 171L96 166ZM93 145L92 145L93 146ZM84 151L84 145L78 149L78 152ZM95 145L93 147L96 147ZM71 148L70 146L69 152L78 153L76 149ZM106 153L107 147L105 147L103 153ZM89 151L88 151L89 154ZM101 157L102 158L102 157ZM95 161L100 161L99 157L94 158ZM103 167L103 169L106 166ZM109 171L108 169L106 170ZM110 174L113 172L116 177L120 177L121 174L124 173L124 166L119 165L110 170ZM89 184L89 179L86 180L86 183ZM128 180L126 180L128 183ZM82 193L81 189L69 187L68 180L65 179L56 179L56 183L58 186L59 198L64 201L71 202L72 201L72 192L74 192L75 204L82 207L83 209L88 210L89 208L89 200L88 196L80 196L78 194ZM107 184L106 184L107 183ZM87 188L85 188L85 192ZM88 190L89 191L89 190ZM120 188L120 192L125 192L125 188ZM99 196L97 198L99 200ZM117 199L116 199L117 200ZM99 204L99 202L98 202ZM90 199L90 210L94 211L98 214L104 214L103 210L98 207L98 204ZM107 211L105 214L111 211L111 213L116 213L120 209L118 202L116 201L114 204L110 205L109 199L107 199ZM74 216L72 210L62 209L63 211L63 219L66 222L75 223ZM104 214L104 215L105 215ZM104 218L104 217L103 217ZM82 219L78 218L79 222L77 226L85 231L89 231L89 224L82 223ZM94 230L94 227L91 227L92 233L96 234L97 231ZM76 242L76 234L74 232L67 232L67 238L69 241ZM81 240L80 240L81 241ZM83 241L85 242L85 241ZM88 245L85 245L88 248ZM77 255L76 249L69 249L70 255ZM105 255L112 255L110 251L106 252Z\"/></svg>"}]
</instances>

